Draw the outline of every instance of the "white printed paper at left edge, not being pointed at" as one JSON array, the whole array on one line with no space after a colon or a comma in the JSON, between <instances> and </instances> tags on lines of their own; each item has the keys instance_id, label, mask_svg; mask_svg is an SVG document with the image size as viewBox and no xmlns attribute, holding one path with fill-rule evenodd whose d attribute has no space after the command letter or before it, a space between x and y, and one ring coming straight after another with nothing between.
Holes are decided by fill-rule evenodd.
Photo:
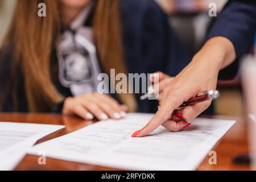
<instances>
[{"instance_id":1,"label":"white printed paper at left edge, not being pointed at","mask_svg":"<svg viewBox=\"0 0 256 182\"><path fill-rule=\"evenodd\" d=\"M37 140L63 127L62 125L0 122L0 170L14 169Z\"/></svg>"}]
</instances>

